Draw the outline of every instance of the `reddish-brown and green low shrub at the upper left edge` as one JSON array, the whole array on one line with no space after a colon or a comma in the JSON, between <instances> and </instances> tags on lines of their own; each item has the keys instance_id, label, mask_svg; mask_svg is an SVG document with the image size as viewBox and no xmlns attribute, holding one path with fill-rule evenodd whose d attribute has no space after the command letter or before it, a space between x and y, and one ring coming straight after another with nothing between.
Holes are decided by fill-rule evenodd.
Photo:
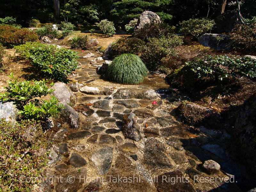
<instances>
[{"instance_id":1,"label":"reddish-brown and green low shrub at the upper left edge","mask_svg":"<svg viewBox=\"0 0 256 192\"><path fill-rule=\"evenodd\" d=\"M26 42L34 42L37 39L38 36L26 28L20 29L12 26L0 26L0 43L6 48L12 48L14 45L20 45Z\"/></svg>"}]
</instances>

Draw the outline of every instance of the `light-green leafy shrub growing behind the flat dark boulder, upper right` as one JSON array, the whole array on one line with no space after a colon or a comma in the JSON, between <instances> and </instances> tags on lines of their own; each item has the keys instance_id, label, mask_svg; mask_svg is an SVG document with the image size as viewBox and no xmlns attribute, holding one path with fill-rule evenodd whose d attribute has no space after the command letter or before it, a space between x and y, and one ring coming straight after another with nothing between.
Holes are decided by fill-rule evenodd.
<instances>
[{"instance_id":1,"label":"light-green leafy shrub growing behind the flat dark boulder, upper right","mask_svg":"<svg viewBox=\"0 0 256 192\"><path fill-rule=\"evenodd\" d=\"M197 38L205 34L207 31L210 31L214 25L214 20L190 19L180 22L180 31L186 35L190 34Z\"/></svg>"}]
</instances>

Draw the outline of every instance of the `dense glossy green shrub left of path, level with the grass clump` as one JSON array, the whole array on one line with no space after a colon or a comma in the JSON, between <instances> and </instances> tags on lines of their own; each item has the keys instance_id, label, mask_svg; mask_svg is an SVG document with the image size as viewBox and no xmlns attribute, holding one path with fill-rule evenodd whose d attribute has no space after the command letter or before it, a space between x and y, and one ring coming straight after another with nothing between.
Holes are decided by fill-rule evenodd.
<instances>
[{"instance_id":1,"label":"dense glossy green shrub left of path, level with the grass clump","mask_svg":"<svg viewBox=\"0 0 256 192\"><path fill-rule=\"evenodd\" d=\"M77 52L54 45L27 43L16 46L17 53L41 70L44 76L66 81L67 75L78 68Z\"/></svg>"}]
</instances>

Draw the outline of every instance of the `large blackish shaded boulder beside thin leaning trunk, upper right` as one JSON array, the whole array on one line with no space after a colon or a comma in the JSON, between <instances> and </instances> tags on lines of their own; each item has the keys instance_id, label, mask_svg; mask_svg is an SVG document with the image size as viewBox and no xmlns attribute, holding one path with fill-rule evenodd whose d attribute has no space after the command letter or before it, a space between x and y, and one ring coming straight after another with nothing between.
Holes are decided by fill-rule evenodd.
<instances>
[{"instance_id":1,"label":"large blackish shaded boulder beside thin leaning trunk, upper right","mask_svg":"<svg viewBox=\"0 0 256 192\"><path fill-rule=\"evenodd\" d=\"M215 29L212 30L214 33L227 33L232 31L237 24L241 24L236 11L226 11L214 21L216 23Z\"/></svg>"}]
</instances>

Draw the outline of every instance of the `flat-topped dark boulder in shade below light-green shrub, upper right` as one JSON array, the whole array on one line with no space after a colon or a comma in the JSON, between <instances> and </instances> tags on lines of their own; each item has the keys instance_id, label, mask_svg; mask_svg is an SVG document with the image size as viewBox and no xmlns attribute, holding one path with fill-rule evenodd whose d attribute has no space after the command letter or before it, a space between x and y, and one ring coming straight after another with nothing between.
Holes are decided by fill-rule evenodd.
<instances>
[{"instance_id":1,"label":"flat-topped dark boulder in shade below light-green shrub, upper right","mask_svg":"<svg viewBox=\"0 0 256 192\"><path fill-rule=\"evenodd\" d=\"M219 38L219 40L218 40ZM198 42L206 47L218 50L230 50L231 42L228 35L206 33L198 38Z\"/></svg>"}]
</instances>

